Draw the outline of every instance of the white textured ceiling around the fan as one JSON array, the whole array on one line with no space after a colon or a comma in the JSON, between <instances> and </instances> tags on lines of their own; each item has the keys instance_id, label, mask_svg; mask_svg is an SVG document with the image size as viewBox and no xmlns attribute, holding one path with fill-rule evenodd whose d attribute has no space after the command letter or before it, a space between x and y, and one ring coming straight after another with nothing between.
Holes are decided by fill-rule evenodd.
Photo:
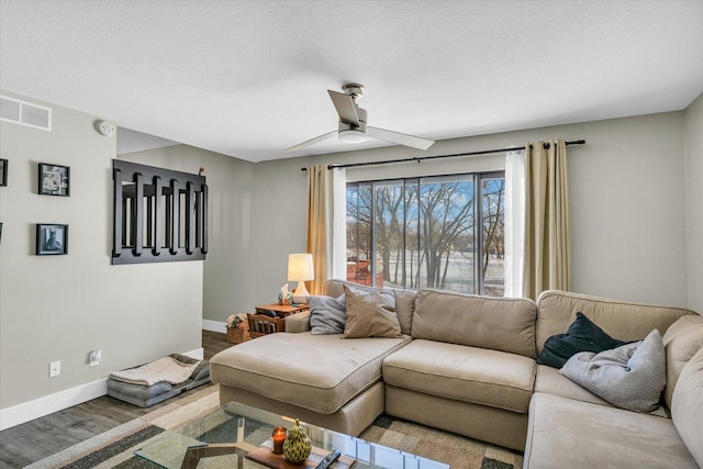
<instances>
[{"instance_id":1,"label":"white textured ceiling around the fan","mask_svg":"<svg viewBox=\"0 0 703 469\"><path fill-rule=\"evenodd\" d=\"M250 161L356 148L283 152L349 81L370 125L435 139L703 91L703 1L0 0L0 31L2 89Z\"/></svg>"}]
</instances>

